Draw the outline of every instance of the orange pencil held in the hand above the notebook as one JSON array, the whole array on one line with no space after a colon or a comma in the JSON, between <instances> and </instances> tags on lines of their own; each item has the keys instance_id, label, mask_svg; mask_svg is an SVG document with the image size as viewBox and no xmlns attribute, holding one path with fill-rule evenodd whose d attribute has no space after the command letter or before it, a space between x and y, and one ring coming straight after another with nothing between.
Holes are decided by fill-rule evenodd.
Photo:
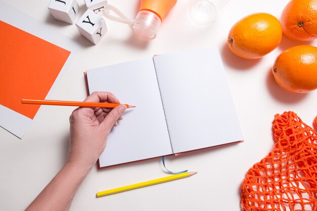
<instances>
[{"instance_id":1,"label":"orange pencil held in the hand above the notebook","mask_svg":"<svg viewBox=\"0 0 317 211\"><path fill-rule=\"evenodd\" d=\"M36 100L36 99L21 99L22 104L36 104L36 105L65 105L65 106L77 106L77 107L100 107L113 109L120 105L119 103L108 103L108 102L80 102L80 101L63 101L63 100ZM124 104L126 107L134 108L135 106Z\"/></svg>"}]
</instances>

